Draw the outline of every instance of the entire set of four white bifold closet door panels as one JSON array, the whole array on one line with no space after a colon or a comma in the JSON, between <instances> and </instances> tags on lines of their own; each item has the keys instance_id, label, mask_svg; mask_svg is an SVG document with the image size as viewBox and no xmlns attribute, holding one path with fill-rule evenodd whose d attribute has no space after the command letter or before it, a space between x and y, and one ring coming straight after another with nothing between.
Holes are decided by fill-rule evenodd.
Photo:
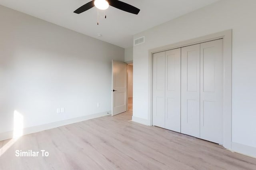
<instances>
[{"instance_id":1,"label":"entire set of four white bifold closet door panels","mask_svg":"<svg viewBox=\"0 0 256 170\"><path fill-rule=\"evenodd\" d=\"M222 144L223 40L153 54L152 124Z\"/></svg>"}]
</instances>

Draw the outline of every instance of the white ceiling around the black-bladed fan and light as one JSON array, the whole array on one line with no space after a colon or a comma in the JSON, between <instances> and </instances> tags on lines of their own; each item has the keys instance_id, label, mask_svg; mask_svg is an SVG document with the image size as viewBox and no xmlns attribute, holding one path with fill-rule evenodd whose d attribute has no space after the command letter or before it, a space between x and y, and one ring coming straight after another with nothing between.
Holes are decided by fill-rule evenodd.
<instances>
[{"instance_id":1,"label":"white ceiling around the black-bladed fan and light","mask_svg":"<svg viewBox=\"0 0 256 170\"><path fill-rule=\"evenodd\" d=\"M0 0L0 4L59 26L86 34L120 47L131 47L133 35L218 0L122 0L140 9L138 15L110 6L107 19L97 8L75 14L74 10L90 0ZM97 34L102 34L98 37Z\"/></svg>"}]
</instances>

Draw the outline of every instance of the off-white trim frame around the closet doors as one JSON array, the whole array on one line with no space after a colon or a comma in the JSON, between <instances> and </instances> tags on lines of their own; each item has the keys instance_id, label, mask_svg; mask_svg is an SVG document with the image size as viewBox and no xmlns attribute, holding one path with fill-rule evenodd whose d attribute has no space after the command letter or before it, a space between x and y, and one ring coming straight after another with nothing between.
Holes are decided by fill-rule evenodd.
<instances>
[{"instance_id":1,"label":"off-white trim frame around the closet doors","mask_svg":"<svg viewBox=\"0 0 256 170\"><path fill-rule=\"evenodd\" d=\"M148 51L149 57L149 101L150 103L148 108L148 120L150 120L150 125L152 126L152 91L153 91L153 54L167 51L171 49L186 47L189 45L194 45L198 43L209 42L213 40L223 39L223 110L222 110L222 137L223 137L223 146L225 148L232 148L232 29L217 32L207 36L202 36L199 38L194 38L191 40L178 42L170 45L165 45L162 47L150 49Z\"/></svg>"}]
</instances>

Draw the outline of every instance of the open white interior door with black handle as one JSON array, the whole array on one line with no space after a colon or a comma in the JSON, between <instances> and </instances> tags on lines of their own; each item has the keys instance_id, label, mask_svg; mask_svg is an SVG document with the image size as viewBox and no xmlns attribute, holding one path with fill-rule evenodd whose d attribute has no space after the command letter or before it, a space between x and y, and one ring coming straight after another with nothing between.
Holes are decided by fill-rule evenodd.
<instances>
[{"instance_id":1,"label":"open white interior door with black handle","mask_svg":"<svg viewBox=\"0 0 256 170\"><path fill-rule=\"evenodd\" d=\"M112 116L127 111L127 64L112 60Z\"/></svg>"}]
</instances>

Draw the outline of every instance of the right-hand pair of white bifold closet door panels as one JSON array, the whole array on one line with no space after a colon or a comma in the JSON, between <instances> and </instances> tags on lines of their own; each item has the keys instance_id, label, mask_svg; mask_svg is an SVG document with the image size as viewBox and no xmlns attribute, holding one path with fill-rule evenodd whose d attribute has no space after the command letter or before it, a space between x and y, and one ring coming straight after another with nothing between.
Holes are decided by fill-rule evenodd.
<instances>
[{"instance_id":1,"label":"right-hand pair of white bifold closet door panels","mask_svg":"<svg viewBox=\"0 0 256 170\"><path fill-rule=\"evenodd\" d=\"M181 49L181 132L222 144L223 40Z\"/></svg>"}]
</instances>

